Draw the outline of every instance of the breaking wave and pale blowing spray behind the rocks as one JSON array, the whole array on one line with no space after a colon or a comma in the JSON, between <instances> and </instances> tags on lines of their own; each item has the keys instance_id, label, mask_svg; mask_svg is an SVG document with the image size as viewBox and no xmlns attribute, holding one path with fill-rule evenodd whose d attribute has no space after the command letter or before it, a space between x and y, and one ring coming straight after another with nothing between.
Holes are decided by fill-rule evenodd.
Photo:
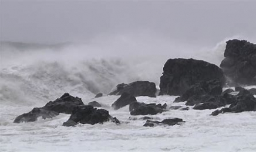
<instances>
[{"instance_id":1,"label":"breaking wave and pale blowing spray behind the rocks","mask_svg":"<svg viewBox=\"0 0 256 152\"><path fill-rule=\"evenodd\" d=\"M64 92L88 97L138 80L158 86L169 58L195 58L220 65L228 39L234 37L215 46L191 46L143 33L52 45L1 42L0 101L46 102Z\"/></svg>"}]
</instances>

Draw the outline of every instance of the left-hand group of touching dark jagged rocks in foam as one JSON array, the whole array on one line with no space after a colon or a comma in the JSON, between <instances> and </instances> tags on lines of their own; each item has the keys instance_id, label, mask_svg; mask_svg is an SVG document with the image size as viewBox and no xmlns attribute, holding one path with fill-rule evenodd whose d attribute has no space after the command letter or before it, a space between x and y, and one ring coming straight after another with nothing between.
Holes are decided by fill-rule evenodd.
<instances>
[{"instance_id":1,"label":"left-hand group of touching dark jagged rocks in foam","mask_svg":"<svg viewBox=\"0 0 256 152\"><path fill-rule=\"evenodd\" d=\"M63 126L74 126L77 123L87 123L94 125L95 123L103 123L111 121L120 123L119 120L109 115L105 109L93 108L92 105L84 105L82 99L65 93L55 101L46 103L42 108L33 108L31 112L18 116L14 122L34 122L39 117L43 119L53 118L59 113L71 114L69 120L63 123Z\"/></svg>"}]
</instances>

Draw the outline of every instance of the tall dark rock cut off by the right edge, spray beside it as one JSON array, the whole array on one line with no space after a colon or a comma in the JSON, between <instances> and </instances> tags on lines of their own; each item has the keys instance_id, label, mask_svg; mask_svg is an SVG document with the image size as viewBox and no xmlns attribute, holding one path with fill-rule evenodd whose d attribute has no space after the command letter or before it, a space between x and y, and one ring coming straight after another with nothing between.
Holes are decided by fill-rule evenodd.
<instances>
[{"instance_id":1,"label":"tall dark rock cut off by the right edge, spray beside it","mask_svg":"<svg viewBox=\"0 0 256 152\"><path fill-rule=\"evenodd\" d=\"M256 44L246 40L228 40L220 67L229 85L256 84Z\"/></svg>"}]
</instances>

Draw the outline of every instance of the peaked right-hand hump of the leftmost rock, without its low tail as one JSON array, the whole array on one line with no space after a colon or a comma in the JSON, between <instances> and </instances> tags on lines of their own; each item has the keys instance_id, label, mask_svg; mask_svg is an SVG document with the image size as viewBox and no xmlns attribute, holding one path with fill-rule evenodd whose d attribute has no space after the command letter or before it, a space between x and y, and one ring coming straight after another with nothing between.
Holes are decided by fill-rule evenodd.
<instances>
[{"instance_id":1,"label":"peaked right-hand hump of the leftmost rock, without its low tail","mask_svg":"<svg viewBox=\"0 0 256 152\"><path fill-rule=\"evenodd\" d=\"M79 105L84 105L82 99L65 93L55 101L50 101L46 103L46 105L43 106L43 108L58 113L71 114L73 109Z\"/></svg>"}]
</instances>

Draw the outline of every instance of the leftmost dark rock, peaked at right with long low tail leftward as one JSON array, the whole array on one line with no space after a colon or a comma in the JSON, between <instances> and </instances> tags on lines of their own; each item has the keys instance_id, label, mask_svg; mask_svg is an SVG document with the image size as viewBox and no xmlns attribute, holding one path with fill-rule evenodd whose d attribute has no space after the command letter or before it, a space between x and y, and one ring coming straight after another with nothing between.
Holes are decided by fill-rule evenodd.
<instances>
[{"instance_id":1,"label":"leftmost dark rock, peaked at right with long low tail leftward","mask_svg":"<svg viewBox=\"0 0 256 152\"><path fill-rule=\"evenodd\" d=\"M65 93L55 101L46 103L46 105L42 108L33 108L31 112L18 116L14 122L34 122L39 117L46 119L59 115L59 113L71 114L73 109L79 105L83 105L83 102L80 98Z\"/></svg>"}]
</instances>

